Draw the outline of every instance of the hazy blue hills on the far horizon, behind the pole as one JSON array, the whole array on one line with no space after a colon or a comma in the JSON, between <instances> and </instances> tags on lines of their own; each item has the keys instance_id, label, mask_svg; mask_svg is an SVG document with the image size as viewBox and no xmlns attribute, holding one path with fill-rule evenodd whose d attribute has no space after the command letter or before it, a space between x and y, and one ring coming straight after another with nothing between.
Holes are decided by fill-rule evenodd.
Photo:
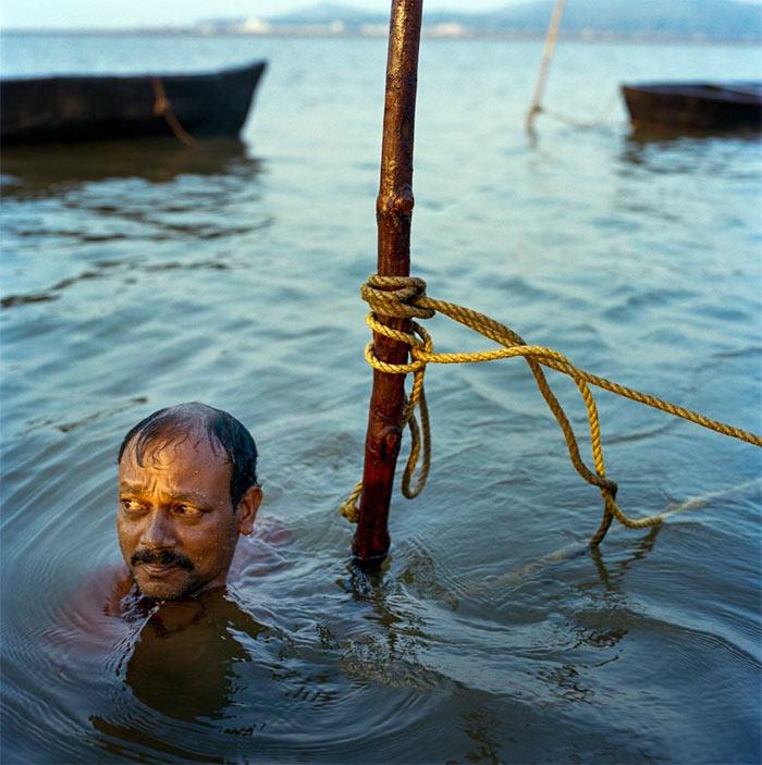
<instances>
[{"instance_id":1,"label":"hazy blue hills on the far horizon, behind the pole","mask_svg":"<svg viewBox=\"0 0 762 765\"><path fill-rule=\"evenodd\" d=\"M463 3L467 7L467 3ZM425 5L426 8L426 5ZM553 0L506 5L496 11L423 12L429 29L458 34L542 35ZM345 33L388 24L388 12L367 12L339 3L272 16L273 27L333 25ZM638 38L762 40L762 5L738 0L567 0L562 34Z\"/></svg>"}]
</instances>

